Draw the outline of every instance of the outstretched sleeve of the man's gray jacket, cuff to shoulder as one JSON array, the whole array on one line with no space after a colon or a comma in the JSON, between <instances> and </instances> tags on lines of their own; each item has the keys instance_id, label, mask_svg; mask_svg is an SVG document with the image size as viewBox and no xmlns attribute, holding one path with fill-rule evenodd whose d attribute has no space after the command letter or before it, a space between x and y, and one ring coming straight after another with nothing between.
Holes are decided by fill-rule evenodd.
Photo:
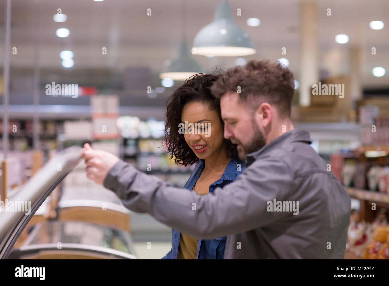
<instances>
[{"instance_id":1,"label":"outstretched sleeve of the man's gray jacket, cuff to shoulder","mask_svg":"<svg viewBox=\"0 0 389 286\"><path fill-rule=\"evenodd\" d=\"M207 196L182 191L119 160L103 185L131 211L149 213L176 230L201 239L241 233L272 223L286 212L268 212L267 202L284 200L293 182L281 158L254 161L237 180Z\"/></svg>"}]
</instances>

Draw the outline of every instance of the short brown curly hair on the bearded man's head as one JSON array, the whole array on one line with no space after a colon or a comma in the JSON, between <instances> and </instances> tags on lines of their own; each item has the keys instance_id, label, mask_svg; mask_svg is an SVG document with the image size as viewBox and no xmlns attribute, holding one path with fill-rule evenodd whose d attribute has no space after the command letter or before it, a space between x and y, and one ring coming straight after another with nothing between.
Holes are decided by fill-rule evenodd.
<instances>
[{"instance_id":1,"label":"short brown curly hair on the bearded man's head","mask_svg":"<svg viewBox=\"0 0 389 286\"><path fill-rule=\"evenodd\" d=\"M281 118L290 118L294 94L293 74L280 62L251 60L245 66L227 70L212 86L212 95L238 93L240 102L255 111L263 102L275 105Z\"/></svg>"}]
</instances>

